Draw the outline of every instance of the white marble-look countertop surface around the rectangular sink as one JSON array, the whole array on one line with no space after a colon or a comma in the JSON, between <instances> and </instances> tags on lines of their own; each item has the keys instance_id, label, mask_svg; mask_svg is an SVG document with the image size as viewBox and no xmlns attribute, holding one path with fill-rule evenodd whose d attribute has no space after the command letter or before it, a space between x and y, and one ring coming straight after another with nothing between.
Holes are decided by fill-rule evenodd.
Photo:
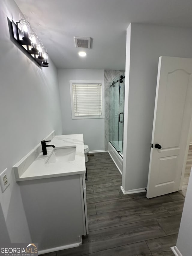
<instances>
[{"instance_id":1,"label":"white marble-look countertop surface around the rectangular sink","mask_svg":"<svg viewBox=\"0 0 192 256\"><path fill-rule=\"evenodd\" d=\"M20 175L16 181L44 179L59 176L68 176L85 173L85 155L83 134L57 135L47 143L57 147L76 146L75 160L45 164L53 151L53 147L47 147L47 155L40 153L35 161Z\"/></svg>"}]
</instances>

